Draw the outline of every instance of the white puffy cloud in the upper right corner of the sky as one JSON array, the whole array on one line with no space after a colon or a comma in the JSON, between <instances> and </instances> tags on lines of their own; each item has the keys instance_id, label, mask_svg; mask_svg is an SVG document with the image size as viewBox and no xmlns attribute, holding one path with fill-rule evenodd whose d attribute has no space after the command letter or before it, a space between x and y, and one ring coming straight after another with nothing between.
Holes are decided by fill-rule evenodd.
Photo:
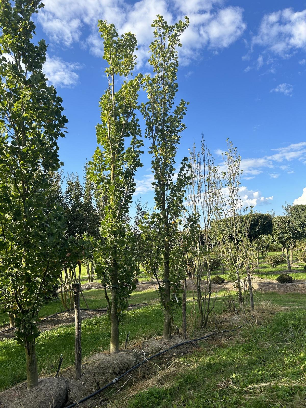
<instances>
[{"instance_id":1,"label":"white puffy cloud in the upper right corner of the sky","mask_svg":"<svg viewBox=\"0 0 306 408\"><path fill-rule=\"evenodd\" d=\"M265 14L253 44L288 58L298 49L306 49L306 10L279 10Z\"/></svg>"}]
</instances>

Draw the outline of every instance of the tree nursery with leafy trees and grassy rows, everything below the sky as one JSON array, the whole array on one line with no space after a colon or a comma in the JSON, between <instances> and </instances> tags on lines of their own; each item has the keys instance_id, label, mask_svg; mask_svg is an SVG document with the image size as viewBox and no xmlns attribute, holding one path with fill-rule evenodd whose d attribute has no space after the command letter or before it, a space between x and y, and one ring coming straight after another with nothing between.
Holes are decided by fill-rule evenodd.
<instances>
[{"instance_id":1,"label":"tree nursery with leafy trees and grassy rows, everything below the sky","mask_svg":"<svg viewBox=\"0 0 306 408\"><path fill-rule=\"evenodd\" d=\"M189 18L156 16L143 73L135 35L97 21L82 180L61 170L43 7L0 3L0 407L305 407L306 205L245 206L230 140L222 164L203 137L179 158ZM133 201L145 154L152 208Z\"/></svg>"}]
</instances>

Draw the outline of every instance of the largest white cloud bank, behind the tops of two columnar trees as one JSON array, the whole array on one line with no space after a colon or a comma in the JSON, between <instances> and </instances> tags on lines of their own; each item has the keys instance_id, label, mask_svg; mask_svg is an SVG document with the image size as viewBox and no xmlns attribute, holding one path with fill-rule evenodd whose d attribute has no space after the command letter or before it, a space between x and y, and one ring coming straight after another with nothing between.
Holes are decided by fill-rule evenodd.
<instances>
[{"instance_id":1,"label":"largest white cloud bank, behind the tops of two columnar trees","mask_svg":"<svg viewBox=\"0 0 306 408\"><path fill-rule=\"evenodd\" d=\"M190 18L190 25L182 35L184 47L180 50L184 64L198 58L203 47L230 46L246 29L243 9L222 8L223 0L140 0L134 4L128 0L45 0L44 4L38 22L52 41L67 47L82 42L100 57L103 47L97 23L99 19L107 20L115 24L119 33L135 33L140 64L148 58L148 46L153 39L151 24L157 14L162 14L169 23L185 15Z\"/></svg>"}]
</instances>

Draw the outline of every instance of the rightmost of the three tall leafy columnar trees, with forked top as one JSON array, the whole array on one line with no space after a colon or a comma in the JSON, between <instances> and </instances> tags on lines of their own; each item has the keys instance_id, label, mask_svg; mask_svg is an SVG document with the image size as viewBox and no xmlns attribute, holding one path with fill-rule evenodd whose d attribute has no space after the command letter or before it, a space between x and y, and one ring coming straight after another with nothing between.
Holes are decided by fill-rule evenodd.
<instances>
[{"instance_id":1,"label":"rightmost of the three tall leafy columnar trees, with forked top","mask_svg":"<svg viewBox=\"0 0 306 408\"><path fill-rule=\"evenodd\" d=\"M152 155L154 174L155 209L151 220L154 220L155 231L162 242L162 282L160 298L164 307L164 339L171 336L171 286L177 286L177 259L173 248L182 213L185 187L187 184L187 157L182 160L176 173L176 153L185 124L182 123L186 113L186 102L181 100L174 106L178 90L177 47L181 47L180 35L188 27L188 18L169 25L160 15L154 20L154 40L150 45L149 64L153 75L146 75L143 88L148 101L142 103L141 112L146 122L145 137L150 141L149 153ZM172 268L172 270L171 270Z\"/></svg>"}]
</instances>

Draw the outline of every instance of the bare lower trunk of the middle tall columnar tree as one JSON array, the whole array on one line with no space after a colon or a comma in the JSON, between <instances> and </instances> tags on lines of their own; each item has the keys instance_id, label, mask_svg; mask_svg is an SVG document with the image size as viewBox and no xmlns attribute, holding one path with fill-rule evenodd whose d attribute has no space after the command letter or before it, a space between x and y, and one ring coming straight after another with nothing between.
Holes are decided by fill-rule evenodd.
<instances>
[{"instance_id":1,"label":"bare lower trunk of the middle tall columnar tree","mask_svg":"<svg viewBox=\"0 0 306 408\"><path fill-rule=\"evenodd\" d=\"M118 317L118 264L113 260L111 273L111 353L119 351L119 317Z\"/></svg>"}]
</instances>

